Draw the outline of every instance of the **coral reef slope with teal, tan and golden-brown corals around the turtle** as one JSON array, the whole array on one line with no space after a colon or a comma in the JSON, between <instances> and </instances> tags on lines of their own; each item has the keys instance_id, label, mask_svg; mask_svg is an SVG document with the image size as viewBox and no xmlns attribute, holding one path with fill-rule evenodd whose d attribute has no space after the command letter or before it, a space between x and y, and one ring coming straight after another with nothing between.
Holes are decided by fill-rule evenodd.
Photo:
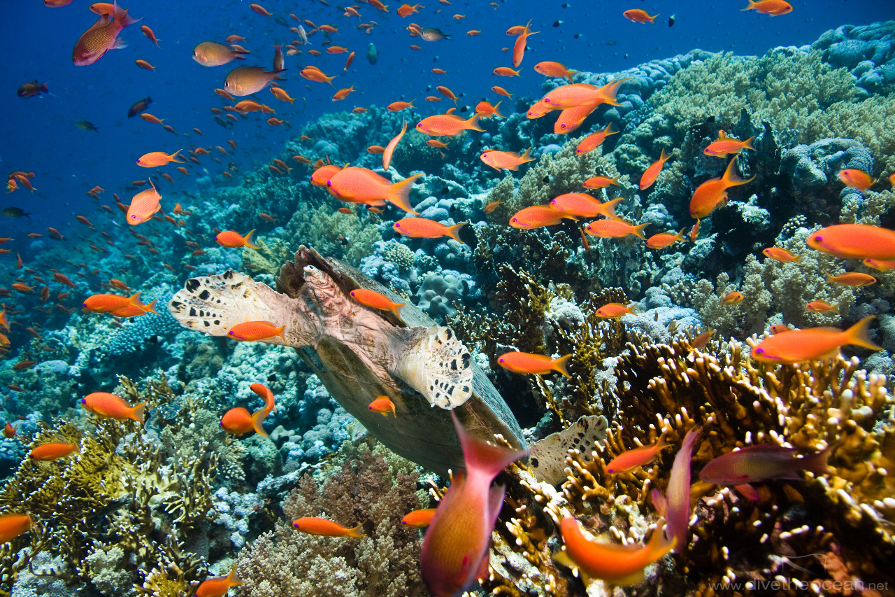
<instances>
[{"instance_id":1,"label":"coral reef slope with teal, tan and golden-brown corals around the turtle","mask_svg":"<svg viewBox=\"0 0 895 597\"><path fill-rule=\"evenodd\" d=\"M199 287L188 278L233 270L294 299L294 277L304 275L304 282L311 274L286 275L284 266L306 246L357 268L352 288L369 277L419 309L405 328L450 328L448 340L456 336L468 350L456 354L476 371L469 403L486 402L483 386L493 385L507 409L476 406L486 413L482 420L490 417L493 430L503 426L507 445L533 446L530 458L499 478L507 496L482 579L486 593L891 594L895 275L810 250L805 239L834 223L895 228L887 182L895 174L893 35L895 22L845 26L811 46L764 56L694 50L621 73L578 73L575 82L626 81L618 106L599 108L571 134L553 132L550 115L525 116L537 98L516 98L505 119L482 119L483 133L464 134L446 149L427 145L412 129L387 174L397 181L423 172L413 185L414 209L448 226L466 222L462 242L396 234L392 224L404 214L394 209L338 211L345 204L311 185L312 163L293 160L378 168L381 157L365 148L397 134L401 117L372 107L309 122L301 137L296 130L278 156L296 164L291 169L265 165L238 184L209 178L201 196L183 200L184 209L202 214L183 216L189 232L150 221L129 230L132 254L105 248L111 244L95 235L106 270L141 289L147 302L158 299L158 314L122 321L83 312L75 306L92 293L86 279L75 282L70 298L58 299L62 308L36 293L4 290L11 321L35 311L46 312L47 321L39 330L13 324L0 363L0 380L11 390L2 414L15 425L14 437L0 443L0 510L35 521L0 547L0 593L191 595L207 577L235 566L243 584L231 593L246 597L429 594L419 566L423 532L400 520L437 506L449 484L446 470L456 473L456 466L440 470L438 461L427 470L419 463L435 462L436 449L423 454L409 439L388 437L430 425L413 429L422 442L453 427L446 410L422 400L424 388L376 385L387 378L380 369L406 374L400 362L376 360L387 352L390 358L394 345L376 345L371 359L348 362L341 347L315 352L301 348L310 341L289 342L293 337L232 342L220 337L226 328L205 336L180 324L178 290L184 282L187 290ZM545 92L561 84L549 81ZM620 133L576 155L585 134L609 123ZM727 165L703 153L720 131L754 137L754 151L733 158L738 176L751 182L729 188L729 202L699 221L692 242L656 250L631 236L588 238L577 221L536 229L507 224L523 208L579 192L600 175L617 178L617 186L595 196L622 197L619 216L649 222L650 234L693 229L688 198ZM479 163L486 147L533 147L537 160L520 172L497 172ZM639 177L663 149L671 160L655 185L641 190ZM840 182L842 169L878 182L857 191ZM203 209L209 204L219 209ZM259 248L200 250L193 240L213 238L234 221L257 227ZM799 259L765 257L765 247ZM70 257L48 242L42 252L47 264ZM3 267L11 280L25 275ZM871 273L876 283L825 281L845 270ZM42 286L60 291L55 283ZM729 304L730 292L743 299ZM323 307L331 299L315 297ZM805 309L819 299L835 310ZM609 303L632 302L634 315L597 314ZM848 346L834 359L777 366L750 357L773 324L845 329L865 316L876 317L873 339L884 350ZM320 316L320 337L336 337L327 335L332 321ZM406 342L412 340L422 342ZM568 376L511 373L498 363L511 350L571 354ZM337 368L333 354L352 367ZM354 373L339 377L334 369ZM259 407L250 388L256 383L276 396L277 409L264 421L269 437L228 435L221 415ZM397 416L353 411L351 384L363 384L362 396L392 396ZM91 415L79 402L92 392L147 402L145 422ZM419 412L407 410L413 408ZM582 425L588 430L581 437L589 439L568 440ZM615 544L639 545L662 532L651 490L675 490L675 454L687 431L700 426L686 544L647 567L646 582L595 579L585 586L555 558L561 519L574 515ZM563 432L566 439L551 436ZM607 471L618 454L660 437L671 447L654 462ZM53 462L26 456L49 441L78 451ZM752 497L699 480L713 458L769 443L801 454L830 448L827 472L757 482ZM405 447L401 456L387 449L392 444ZM444 448L454 464L456 450ZM366 536L294 531L292 521L303 516L360 524Z\"/></svg>"}]
</instances>

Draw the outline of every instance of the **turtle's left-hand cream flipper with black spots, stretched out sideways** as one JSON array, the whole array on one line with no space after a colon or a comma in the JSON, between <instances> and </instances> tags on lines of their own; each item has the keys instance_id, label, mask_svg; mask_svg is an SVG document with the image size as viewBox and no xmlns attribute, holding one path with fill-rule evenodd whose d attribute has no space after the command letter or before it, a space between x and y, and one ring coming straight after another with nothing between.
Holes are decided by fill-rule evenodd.
<instances>
[{"instance_id":1,"label":"turtle's left-hand cream flipper with black spots, stretched out sideways","mask_svg":"<svg viewBox=\"0 0 895 597\"><path fill-rule=\"evenodd\" d=\"M168 303L168 311L184 327L211 336L226 336L230 328L246 321L286 325L286 343L301 346L309 343L311 326L292 308L293 302L298 301L242 273L227 270L187 280L183 290L178 290ZM275 336L262 342L281 341Z\"/></svg>"}]
</instances>

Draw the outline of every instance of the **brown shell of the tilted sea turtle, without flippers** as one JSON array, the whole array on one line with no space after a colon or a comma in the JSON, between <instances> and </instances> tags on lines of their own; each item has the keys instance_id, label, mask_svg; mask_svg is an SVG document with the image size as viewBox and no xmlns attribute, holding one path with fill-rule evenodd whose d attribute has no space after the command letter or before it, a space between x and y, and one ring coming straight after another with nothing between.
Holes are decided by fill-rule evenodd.
<instances>
[{"instance_id":1,"label":"brown shell of the tilted sea turtle, without flippers","mask_svg":"<svg viewBox=\"0 0 895 597\"><path fill-rule=\"evenodd\" d=\"M403 302L401 297L354 267L332 257L323 257L309 247L299 247L294 261L280 268L277 291L294 299L307 296L305 268L309 265L326 273L349 301L353 300L349 296L352 290L363 288L375 290L392 301ZM404 350L407 342L429 340L422 336L432 333L441 334L441 340L445 342L458 343L452 331L438 327L412 304L401 307L400 319L388 311L376 311L376 315L383 320L381 332L393 336L386 345L396 353ZM381 368L371 368L356 346L324 333L316 346L300 346L295 350L345 411L360 420L393 452L441 475L448 469L456 470L464 465L450 412L430 405L426 397L400 376ZM465 364L473 372L472 394L453 408L458 420L476 437L493 440L494 434L501 434L516 449L524 449L527 446L516 417L484 372L468 359L468 352L465 354ZM392 356L400 359L398 354ZM434 360L438 356L426 358ZM430 364L435 365L434 362ZM395 402L396 416L391 413L383 416L369 409L370 403L380 395L387 395Z\"/></svg>"}]
</instances>

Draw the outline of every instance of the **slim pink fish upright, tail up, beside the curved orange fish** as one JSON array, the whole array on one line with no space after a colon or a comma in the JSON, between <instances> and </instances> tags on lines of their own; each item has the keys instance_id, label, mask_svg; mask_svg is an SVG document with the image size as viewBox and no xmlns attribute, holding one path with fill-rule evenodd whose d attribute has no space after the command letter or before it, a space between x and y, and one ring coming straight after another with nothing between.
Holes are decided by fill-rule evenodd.
<instances>
[{"instance_id":1,"label":"slim pink fish upright, tail up, beside the curved orange fish","mask_svg":"<svg viewBox=\"0 0 895 597\"><path fill-rule=\"evenodd\" d=\"M671 465L669 487L665 496L659 489L653 489L650 497L652 503L665 516L665 536L669 541L674 541L675 553L686 551L689 543L686 541L686 533L690 526L690 459L693 457L693 446L696 438L703 430L702 426L695 427L686 432L678 454Z\"/></svg>"}]
</instances>

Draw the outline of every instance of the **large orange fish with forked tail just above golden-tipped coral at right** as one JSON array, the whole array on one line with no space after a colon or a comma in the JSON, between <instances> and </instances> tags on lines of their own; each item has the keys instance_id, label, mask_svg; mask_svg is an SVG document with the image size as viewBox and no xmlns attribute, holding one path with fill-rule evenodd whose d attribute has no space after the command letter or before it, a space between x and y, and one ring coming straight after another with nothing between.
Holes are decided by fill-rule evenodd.
<instances>
[{"instance_id":1,"label":"large orange fish with forked tail just above golden-tipped coral at right","mask_svg":"<svg viewBox=\"0 0 895 597\"><path fill-rule=\"evenodd\" d=\"M846 344L882 350L871 342L868 331L874 316L866 316L848 330L834 327L811 327L778 333L758 342L752 358L764 363L803 363L807 360L833 359Z\"/></svg>"}]
</instances>

